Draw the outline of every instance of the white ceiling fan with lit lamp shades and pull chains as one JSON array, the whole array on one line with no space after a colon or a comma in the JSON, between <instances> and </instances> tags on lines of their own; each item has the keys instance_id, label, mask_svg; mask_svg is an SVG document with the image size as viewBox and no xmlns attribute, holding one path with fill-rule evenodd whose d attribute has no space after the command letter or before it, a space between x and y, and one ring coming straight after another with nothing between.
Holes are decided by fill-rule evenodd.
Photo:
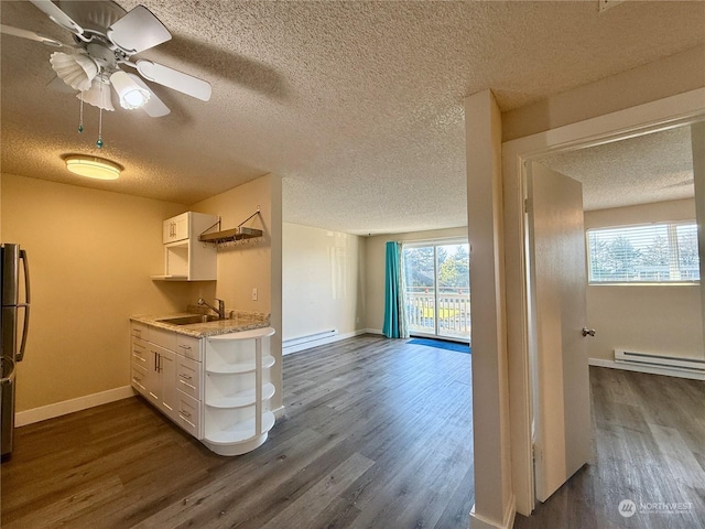
<instances>
[{"instance_id":1,"label":"white ceiling fan with lit lamp shades and pull chains","mask_svg":"<svg viewBox=\"0 0 705 529\"><path fill-rule=\"evenodd\" d=\"M150 82L204 101L210 99L212 88L206 80L152 61L131 61L133 55L172 37L164 24L144 6L137 6L128 12L113 1L30 2L54 23L73 33L74 44L8 25L0 25L1 32L65 48L68 53L54 52L50 62L58 78L79 91L77 97L82 101L101 110L113 110L112 87L123 108L142 108L153 118L166 116L169 107L140 76L122 69L124 66L135 69ZM78 130L83 130L83 123ZM97 144L102 147L100 137Z\"/></svg>"}]
</instances>

